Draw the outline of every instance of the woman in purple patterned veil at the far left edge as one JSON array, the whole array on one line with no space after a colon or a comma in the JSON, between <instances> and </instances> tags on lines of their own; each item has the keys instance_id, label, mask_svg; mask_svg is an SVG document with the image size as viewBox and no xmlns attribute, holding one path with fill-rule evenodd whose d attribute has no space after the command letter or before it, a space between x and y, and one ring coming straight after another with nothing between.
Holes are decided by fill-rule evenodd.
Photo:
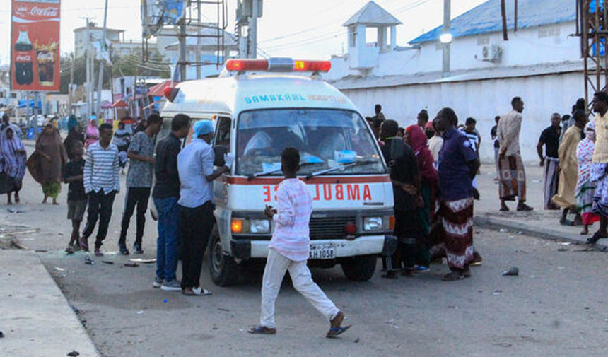
<instances>
[{"instance_id":1,"label":"woman in purple patterned veil at the far left edge","mask_svg":"<svg viewBox=\"0 0 608 357\"><path fill-rule=\"evenodd\" d=\"M19 191L25 175L25 147L13 127L5 127L0 136L0 164L2 168L2 190L13 204L11 196L15 192L15 203L19 203Z\"/></svg>"}]
</instances>

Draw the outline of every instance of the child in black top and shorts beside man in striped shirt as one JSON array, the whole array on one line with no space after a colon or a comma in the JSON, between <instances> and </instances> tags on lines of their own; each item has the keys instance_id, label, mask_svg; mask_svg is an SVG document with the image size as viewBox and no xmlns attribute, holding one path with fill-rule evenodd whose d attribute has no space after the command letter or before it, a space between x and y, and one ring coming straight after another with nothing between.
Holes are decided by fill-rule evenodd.
<instances>
[{"instance_id":1,"label":"child in black top and shorts beside man in striped shirt","mask_svg":"<svg viewBox=\"0 0 608 357\"><path fill-rule=\"evenodd\" d=\"M81 141L74 141L69 163L66 165L64 181L68 188L68 219L72 221L72 234L66 248L66 253L72 254L78 250L80 238L80 223L86 210L86 194L84 193L83 170L85 160L82 158L84 146Z\"/></svg>"}]
</instances>

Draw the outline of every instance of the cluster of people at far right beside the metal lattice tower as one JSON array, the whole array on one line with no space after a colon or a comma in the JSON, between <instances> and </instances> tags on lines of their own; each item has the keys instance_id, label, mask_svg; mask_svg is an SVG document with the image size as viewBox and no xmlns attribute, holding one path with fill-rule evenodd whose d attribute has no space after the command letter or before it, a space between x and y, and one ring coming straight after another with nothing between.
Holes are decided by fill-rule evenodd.
<instances>
[{"instance_id":1,"label":"cluster of people at far right beside the metal lattice tower","mask_svg":"<svg viewBox=\"0 0 608 357\"><path fill-rule=\"evenodd\" d=\"M589 120L581 98L573 105L571 115L551 115L551 125L542 131L537 151L544 166L544 209L561 209L559 223L583 226L582 235L589 234L589 226L600 221L600 228L587 240L595 244L608 237L608 192L604 187L608 139L602 136L608 95L595 93L592 108L596 115ZM568 219L568 214L574 214L574 218Z\"/></svg>"}]
</instances>

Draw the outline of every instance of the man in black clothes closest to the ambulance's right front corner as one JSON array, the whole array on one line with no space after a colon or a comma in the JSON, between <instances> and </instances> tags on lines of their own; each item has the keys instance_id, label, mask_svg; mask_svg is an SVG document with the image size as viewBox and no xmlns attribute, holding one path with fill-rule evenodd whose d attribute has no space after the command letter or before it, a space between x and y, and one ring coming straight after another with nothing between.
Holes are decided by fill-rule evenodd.
<instances>
[{"instance_id":1,"label":"man in black clothes closest to the ambulance's right front corner","mask_svg":"<svg viewBox=\"0 0 608 357\"><path fill-rule=\"evenodd\" d=\"M386 278L394 278L397 271L405 276L414 274L417 247L423 246L424 233L418 219L420 194L420 170L414 150L397 137L399 126L387 120L380 127L380 136L385 146L382 155L390 168L390 179L394 194L394 233L399 238L399 249L385 261Z\"/></svg>"}]
</instances>

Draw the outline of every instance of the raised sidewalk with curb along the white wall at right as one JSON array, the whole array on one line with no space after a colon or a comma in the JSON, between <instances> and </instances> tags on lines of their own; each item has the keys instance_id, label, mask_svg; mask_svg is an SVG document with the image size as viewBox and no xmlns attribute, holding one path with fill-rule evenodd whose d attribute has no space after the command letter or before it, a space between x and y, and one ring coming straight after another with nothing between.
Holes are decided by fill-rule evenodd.
<instances>
[{"instance_id":1,"label":"raised sidewalk with curb along the white wall at right","mask_svg":"<svg viewBox=\"0 0 608 357\"><path fill-rule=\"evenodd\" d=\"M590 227L589 235L580 235L581 226L561 226L560 211L543 209L542 168L538 165L526 165L527 204L534 207L532 212L515 211L515 202L508 202L511 211L501 212L498 199L498 182L493 180L492 165L482 165L481 175L477 176L481 201L475 201L475 224L495 229L506 229L513 234L522 233L539 238L563 240L574 244L585 244L587 238L597 230L598 223ZM608 239L601 239L597 249L608 250Z\"/></svg>"}]
</instances>

